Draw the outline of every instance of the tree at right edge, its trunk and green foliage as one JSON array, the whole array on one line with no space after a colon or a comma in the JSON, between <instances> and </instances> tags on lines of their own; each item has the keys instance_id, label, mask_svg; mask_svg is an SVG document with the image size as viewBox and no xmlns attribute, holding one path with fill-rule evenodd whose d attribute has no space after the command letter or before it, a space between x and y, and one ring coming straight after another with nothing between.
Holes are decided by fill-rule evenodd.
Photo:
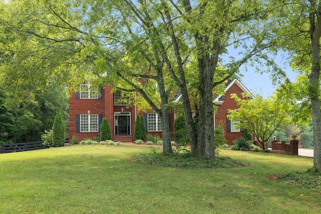
<instances>
[{"instance_id":1,"label":"tree at right edge, its trunk and green foliage","mask_svg":"<svg viewBox=\"0 0 321 214\"><path fill-rule=\"evenodd\" d=\"M320 111L320 39L321 3L308 1L271 1L279 10L276 22L279 45L287 53L291 67L307 77L302 84L309 102L313 125L313 166L321 171L321 111ZM307 92L307 93L306 93ZM303 106L304 108L304 106ZM303 114L302 114L303 115Z\"/></svg>"}]
</instances>

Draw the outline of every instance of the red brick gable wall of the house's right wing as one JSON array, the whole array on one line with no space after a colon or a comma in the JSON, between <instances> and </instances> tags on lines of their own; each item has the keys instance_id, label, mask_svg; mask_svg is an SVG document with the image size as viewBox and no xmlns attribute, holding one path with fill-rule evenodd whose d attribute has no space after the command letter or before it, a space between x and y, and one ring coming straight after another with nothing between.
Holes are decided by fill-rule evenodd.
<instances>
[{"instance_id":1,"label":"red brick gable wall of the house's right wing","mask_svg":"<svg viewBox=\"0 0 321 214\"><path fill-rule=\"evenodd\" d=\"M225 138L227 143L231 145L232 141L237 139L240 136L244 136L244 132L227 132L226 127L226 116L228 109L238 109L236 102L234 99L231 98L231 94L237 94L238 97L242 97L241 93L243 91L237 84L233 84L223 96L223 103L222 105L217 105L218 110L215 114L215 124L222 124L225 132Z\"/></svg>"}]
</instances>

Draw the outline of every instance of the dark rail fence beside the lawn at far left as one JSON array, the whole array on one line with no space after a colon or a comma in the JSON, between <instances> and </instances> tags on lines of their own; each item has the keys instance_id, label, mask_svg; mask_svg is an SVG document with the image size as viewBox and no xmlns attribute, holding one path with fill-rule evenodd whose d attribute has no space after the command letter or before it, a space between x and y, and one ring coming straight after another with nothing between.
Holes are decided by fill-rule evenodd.
<instances>
[{"instance_id":1,"label":"dark rail fence beside the lawn at far left","mask_svg":"<svg viewBox=\"0 0 321 214\"><path fill-rule=\"evenodd\" d=\"M27 143L10 143L10 144L0 144L0 153L10 153L19 151L31 151L37 149L49 148L42 144L44 141L37 142L27 142Z\"/></svg>"}]
</instances>

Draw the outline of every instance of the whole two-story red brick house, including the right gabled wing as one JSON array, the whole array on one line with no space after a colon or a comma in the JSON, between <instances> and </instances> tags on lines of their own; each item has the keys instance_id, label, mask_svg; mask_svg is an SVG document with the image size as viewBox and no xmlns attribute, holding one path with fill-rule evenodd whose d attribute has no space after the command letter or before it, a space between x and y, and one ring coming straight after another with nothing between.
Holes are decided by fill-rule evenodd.
<instances>
[{"instance_id":1,"label":"whole two-story red brick house, including the right gabled wing","mask_svg":"<svg viewBox=\"0 0 321 214\"><path fill-rule=\"evenodd\" d=\"M79 85L79 91L72 93L69 98L69 138L77 136L79 140L86 137L93 138L100 131L102 118L107 118L110 124L112 138L114 141L131 142L133 140L134 124L137 114L144 115L146 132L152 135L158 134L162 137L162 123L158 115L152 110L138 112L137 106L130 106L129 97L124 97L119 91L111 93L112 87L106 85L104 88L92 89L89 84ZM98 92L98 93L97 93ZM228 143L244 133L237 129L237 122L227 119L227 110L236 109L237 105L230 94L249 91L240 80L230 80L226 84L225 94L217 97L213 104L218 106L215 124L224 124L225 137ZM179 100L177 96L175 100ZM173 123L175 113L169 115L170 131L174 132ZM173 137L173 136L172 136Z\"/></svg>"}]
</instances>

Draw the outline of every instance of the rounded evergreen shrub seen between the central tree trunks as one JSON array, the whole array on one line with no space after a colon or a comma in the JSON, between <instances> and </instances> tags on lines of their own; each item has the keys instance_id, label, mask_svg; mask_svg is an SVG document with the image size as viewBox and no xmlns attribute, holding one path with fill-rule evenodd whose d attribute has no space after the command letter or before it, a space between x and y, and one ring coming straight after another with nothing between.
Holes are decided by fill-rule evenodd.
<instances>
[{"instance_id":1,"label":"rounded evergreen shrub seen between the central tree trunks","mask_svg":"<svg viewBox=\"0 0 321 214\"><path fill-rule=\"evenodd\" d=\"M174 122L174 138L180 145L187 145L189 139L187 137L186 119L183 114L180 114Z\"/></svg>"}]
</instances>

